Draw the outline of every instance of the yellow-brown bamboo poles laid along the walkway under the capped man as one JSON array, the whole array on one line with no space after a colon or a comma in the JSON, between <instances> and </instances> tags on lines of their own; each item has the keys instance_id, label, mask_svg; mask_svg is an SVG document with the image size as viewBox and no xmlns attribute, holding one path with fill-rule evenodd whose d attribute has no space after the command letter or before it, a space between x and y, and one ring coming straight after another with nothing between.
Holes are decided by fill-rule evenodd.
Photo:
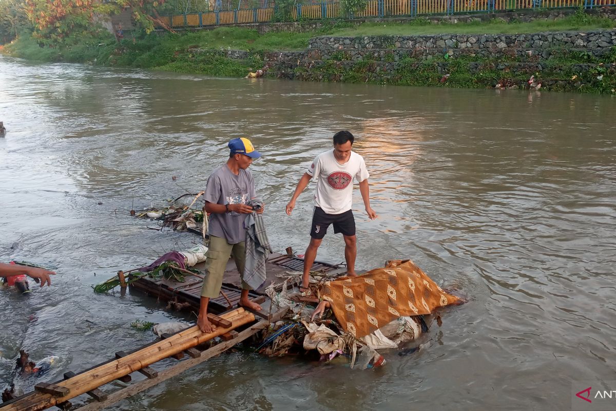
<instances>
[{"instance_id":1,"label":"yellow-brown bamboo poles laid along the walkway under the capped man","mask_svg":"<svg viewBox=\"0 0 616 411\"><path fill-rule=\"evenodd\" d=\"M254 321L254 315L246 312L243 308L238 308L231 312L221 315L222 318L232 322L231 327L217 327L212 333L202 333L195 325L180 333L172 335L166 340L152 344L142 350L133 352L126 357L103 364L87 372L81 373L69 378L68 380L59 381L56 385L68 388L70 391L62 397L55 397L51 394L43 394L35 392L30 396L23 397L5 407L0 407L1 411L40 411L60 402L68 401L71 398L87 393L92 389L116 380L122 376L129 375L141 368L147 367L155 362L158 362L173 354L182 352L185 349L192 348L198 344L205 343L216 336L240 327L240 325L248 324Z\"/></svg>"}]
</instances>

